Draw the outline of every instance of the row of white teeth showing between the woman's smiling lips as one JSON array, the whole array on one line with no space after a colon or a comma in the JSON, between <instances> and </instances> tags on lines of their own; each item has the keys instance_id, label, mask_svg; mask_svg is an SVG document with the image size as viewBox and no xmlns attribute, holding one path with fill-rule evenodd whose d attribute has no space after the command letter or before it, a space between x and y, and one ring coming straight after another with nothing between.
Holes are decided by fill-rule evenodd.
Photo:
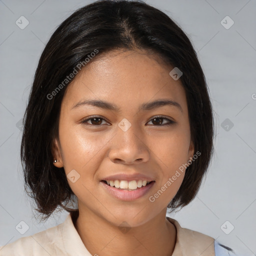
<instances>
[{"instance_id":1,"label":"row of white teeth showing between the woman's smiling lips","mask_svg":"<svg viewBox=\"0 0 256 256\"><path fill-rule=\"evenodd\" d=\"M145 186L148 186L151 183L154 183L154 180L147 181L147 180L101 180L104 184L114 187L119 190L127 190L127 191L134 191L141 189Z\"/></svg>"}]
</instances>

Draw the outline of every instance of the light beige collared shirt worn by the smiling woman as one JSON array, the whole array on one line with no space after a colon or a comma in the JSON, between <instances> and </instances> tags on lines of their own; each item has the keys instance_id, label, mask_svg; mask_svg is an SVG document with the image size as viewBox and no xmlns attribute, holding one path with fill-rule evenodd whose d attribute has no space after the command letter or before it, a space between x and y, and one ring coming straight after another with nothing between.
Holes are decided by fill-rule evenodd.
<instances>
[{"instance_id":1,"label":"light beige collared shirt worn by the smiling woman","mask_svg":"<svg viewBox=\"0 0 256 256\"><path fill-rule=\"evenodd\" d=\"M176 227L176 243L171 256L214 256L214 239L208 235L182 228L170 217ZM0 247L0 256L97 256L91 255L77 233L71 214L59 225ZM99 253L100 255L100 253Z\"/></svg>"}]
</instances>

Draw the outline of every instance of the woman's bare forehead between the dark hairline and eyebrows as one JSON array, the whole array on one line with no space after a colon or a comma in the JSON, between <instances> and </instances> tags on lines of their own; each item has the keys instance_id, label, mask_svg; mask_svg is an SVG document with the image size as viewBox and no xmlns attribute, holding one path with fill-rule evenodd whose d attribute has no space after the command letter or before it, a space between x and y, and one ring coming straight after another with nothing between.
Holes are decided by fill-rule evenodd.
<instances>
[{"instance_id":1,"label":"woman's bare forehead between the dark hairline and eyebrows","mask_svg":"<svg viewBox=\"0 0 256 256\"><path fill-rule=\"evenodd\" d=\"M179 101L186 108L180 80L173 66L145 51L110 51L92 59L68 85L63 101L69 109L82 99L114 102L119 108L138 107L159 98Z\"/></svg>"}]
</instances>

